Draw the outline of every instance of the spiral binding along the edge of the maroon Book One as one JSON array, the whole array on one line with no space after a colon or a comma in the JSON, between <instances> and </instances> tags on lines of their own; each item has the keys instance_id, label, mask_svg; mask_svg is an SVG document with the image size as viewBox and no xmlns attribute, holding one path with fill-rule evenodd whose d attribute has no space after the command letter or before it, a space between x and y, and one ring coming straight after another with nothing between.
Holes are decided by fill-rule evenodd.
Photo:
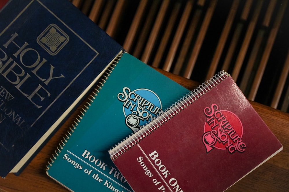
<instances>
[{"instance_id":1,"label":"spiral binding along the edge of the maroon Book One","mask_svg":"<svg viewBox=\"0 0 289 192\"><path fill-rule=\"evenodd\" d=\"M192 104L201 96L206 94L209 90L221 83L227 77L229 77L228 73L224 71L219 72L214 77L207 80L205 83L199 85L193 91L189 92L186 96L175 102L173 105L171 105L171 107L164 110L164 112L161 113L159 116L154 117L150 123L147 123L140 130L132 133L130 136L126 137L123 141L121 141L121 143L118 143L117 145L115 145L115 147L112 147L112 149L108 151L112 160L115 160L116 158L121 156L121 154L125 153L127 150L135 146L138 142L143 140L145 137L149 136L149 134L157 130L160 126L162 126L164 123L176 116L182 110L187 108L190 104Z\"/></svg>"}]
</instances>

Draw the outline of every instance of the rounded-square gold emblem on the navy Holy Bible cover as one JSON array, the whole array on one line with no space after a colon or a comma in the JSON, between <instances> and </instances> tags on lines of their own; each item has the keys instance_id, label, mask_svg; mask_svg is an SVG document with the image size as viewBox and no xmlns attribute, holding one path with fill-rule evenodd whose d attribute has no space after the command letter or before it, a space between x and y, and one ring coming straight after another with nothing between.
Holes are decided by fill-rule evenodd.
<instances>
[{"instance_id":1,"label":"rounded-square gold emblem on the navy Holy Bible cover","mask_svg":"<svg viewBox=\"0 0 289 192\"><path fill-rule=\"evenodd\" d=\"M56 55L69 41L69 37L56 24L50 24L38 37L37 43L50 55Z\"/></svg>"}]
</instances>

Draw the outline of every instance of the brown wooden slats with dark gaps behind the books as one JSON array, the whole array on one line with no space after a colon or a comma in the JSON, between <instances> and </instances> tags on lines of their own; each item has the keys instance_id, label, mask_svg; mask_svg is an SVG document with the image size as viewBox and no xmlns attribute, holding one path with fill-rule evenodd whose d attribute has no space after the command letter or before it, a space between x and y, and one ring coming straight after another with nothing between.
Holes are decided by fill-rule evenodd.
<instances>
[{"instance_id":1,"label":"brown wooden slats with dark gaps behind the books","mask_svg":"<svg viewBox=\"0 0 289 192\"><path fill-rule=\"evenodd\" d=\"M288 0L71 0L130 54L202 83L220 70L289 112Z\"/></svg>"}]
</instances>

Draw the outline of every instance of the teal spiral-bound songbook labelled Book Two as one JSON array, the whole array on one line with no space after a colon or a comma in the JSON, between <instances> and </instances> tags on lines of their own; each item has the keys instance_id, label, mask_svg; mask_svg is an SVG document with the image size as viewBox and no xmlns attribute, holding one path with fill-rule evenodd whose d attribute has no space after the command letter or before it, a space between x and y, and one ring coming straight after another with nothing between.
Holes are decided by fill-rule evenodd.
<instances>
[{"instance_id":1,"label":"teal spiral-bound songbook labelled Book Two","mask_svg":"<svg viewBox=\"0 0 289 192\"><path fill-rule=\"evenodd\" d=\"M188 92L124 53L47 174L71 191L132 191L111 161L109 148Z\"/></svg>"}]
</instances>

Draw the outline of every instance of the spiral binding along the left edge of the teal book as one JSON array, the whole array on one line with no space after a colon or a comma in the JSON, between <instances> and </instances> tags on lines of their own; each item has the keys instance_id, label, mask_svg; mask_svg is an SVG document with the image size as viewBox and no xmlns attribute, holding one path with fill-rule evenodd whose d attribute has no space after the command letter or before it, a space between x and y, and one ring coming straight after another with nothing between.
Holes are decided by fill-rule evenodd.
<instances>
[{"instance_id":1,"label":"spiral binding along the left edge of the teal book","mask_svg":"<svg viewBox=\"0 0 289 192\"><path fill-rule=\"evenodd\" d=\"M121 59L122 55L123 55L123 52L118 54L118 56L116 56L116 58L112 61L112 63L109 64L110 66L108 67L108 69L106 69L102 78L100 79L100 81L98 82L94 90L91 92L92 94L88 97L89 102L87 101L86 105L84 105L84 108L82 108L82 111L80 112L81 115L77 115L78 118L75 118L75 120L73 121L74 124L71 124L72 127L69 128L69 130L63 137L63 140L61 140L60 143L58 144L59 146L56 147L56 150L54 151L55 154L52 154L52 157L50 157L50 161L48 161L46 170L49 170L49 168L54 163L54 160L56 159L58 154L61 152L61 150L63 149L63 146L66 144L66 142L68 141L68 139L70 138L74 130L77 128L78 123L81 121L82 117L86 113L86 110L89 108L89 106L91 105L91 103L93 102L97 94L100 92L99 90L101 90L102 86L104 85L108 77L110 76L110 73L112 73L112 71L114 70L114 67L116 66L118 61Z\"/></svg>"}]
</instances>

